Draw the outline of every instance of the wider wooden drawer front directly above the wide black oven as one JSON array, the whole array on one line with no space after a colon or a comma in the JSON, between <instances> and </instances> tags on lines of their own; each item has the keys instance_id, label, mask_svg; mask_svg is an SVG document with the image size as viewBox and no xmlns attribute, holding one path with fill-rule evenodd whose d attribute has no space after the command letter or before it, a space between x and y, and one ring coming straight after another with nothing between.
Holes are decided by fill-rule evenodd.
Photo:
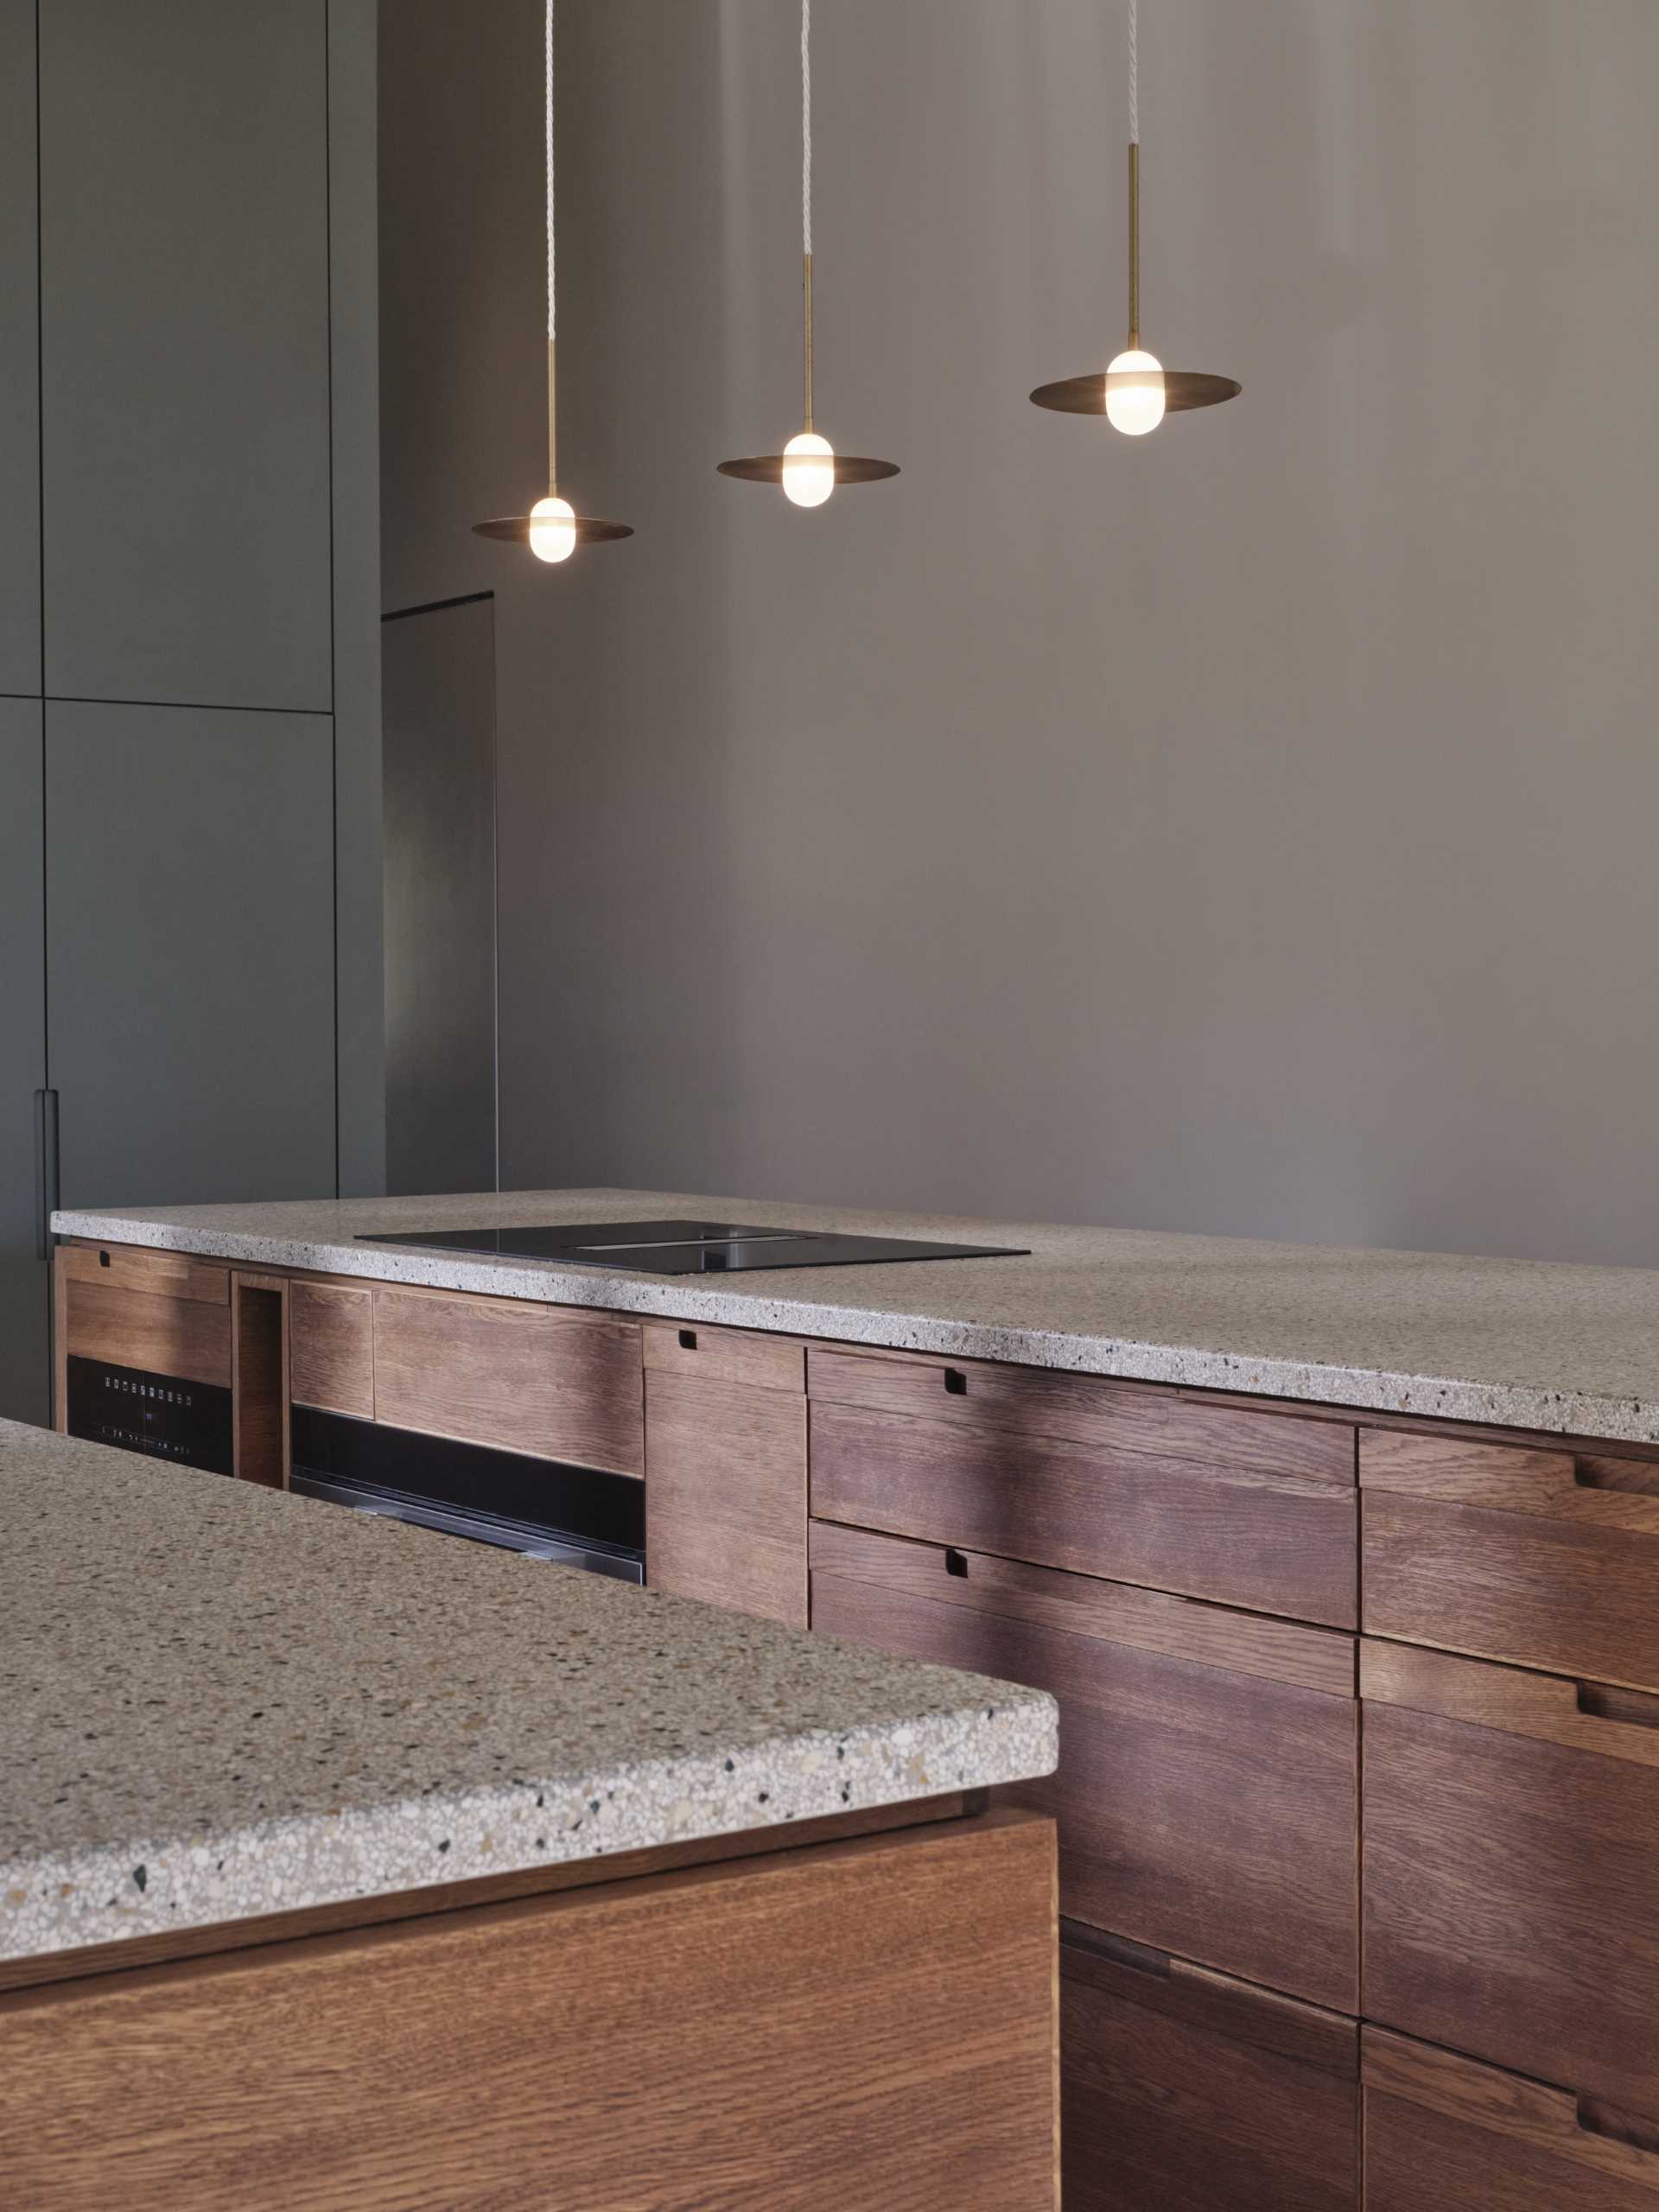
<instances>
[{"instance_id":1,"label":"wider wooden drawer front directly above the wide black oven","mask_svg":"<svg viewBox=\"0 0 1659 2212\"><path fill-rule=\"evenodd\" d=\"M518 1298L376 1290L374 1413L394 1429L639 1475L639 1327Z\"/></svg>"}]
</instances>

